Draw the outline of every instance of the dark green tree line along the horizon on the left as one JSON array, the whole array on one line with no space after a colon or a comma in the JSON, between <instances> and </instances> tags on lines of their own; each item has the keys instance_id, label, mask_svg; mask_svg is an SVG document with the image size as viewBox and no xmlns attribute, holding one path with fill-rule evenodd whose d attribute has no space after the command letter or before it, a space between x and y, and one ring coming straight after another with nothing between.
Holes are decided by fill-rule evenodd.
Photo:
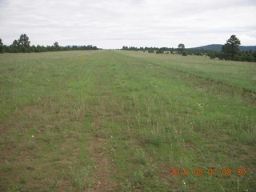
<instances>
[{"instance_id":1,"label":"dark green tree line along the horizon on the left","mask_svg":"<svg viewBox=\"0 0 256 192\"><path fill-rule=\"evenodd\" d=\"M99 50L97 46L59 46L58 42L54 42L53 46L30 46L29 37L22 34L20 38L15 39L10 46L3 45L0 38L0 53L31 53L61 50Z\"/></svg>"}]
</instances>

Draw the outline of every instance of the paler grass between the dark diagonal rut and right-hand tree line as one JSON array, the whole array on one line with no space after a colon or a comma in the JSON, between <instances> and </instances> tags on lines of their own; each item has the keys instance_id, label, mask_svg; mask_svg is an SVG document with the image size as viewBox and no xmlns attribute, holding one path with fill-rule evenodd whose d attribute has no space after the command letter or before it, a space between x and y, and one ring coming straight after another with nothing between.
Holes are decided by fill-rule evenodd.
<instances>
[{"instance_id":1,"label":"paler grass between the dark diagonal rut and right-hand tree line","mask_svg":"<svg viewBox=\"0 0 256 192\"><path fill-rule=\"evenodd\" d=\"M120 51L123 53L123 51ZM178 54L147 54L127 51L126 55L143 58L151 63L161 63L162 67L210 78L215 82L238 86L246 90L256 91L256 69L254 62L230 62L209 59L209 57L187 56Z\"/></svg>"}]
</instances>

